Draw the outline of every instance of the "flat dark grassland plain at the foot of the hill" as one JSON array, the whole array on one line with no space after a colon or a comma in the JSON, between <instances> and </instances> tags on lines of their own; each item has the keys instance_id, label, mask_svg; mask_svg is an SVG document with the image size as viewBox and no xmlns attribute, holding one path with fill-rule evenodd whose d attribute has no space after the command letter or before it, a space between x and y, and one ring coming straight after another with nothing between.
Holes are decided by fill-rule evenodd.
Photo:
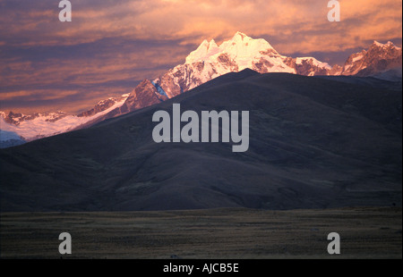
<instances>
[{"instance_id":1,"label":"flat dark grassland plain at the foot of the hill","mask_svg":"<svg viewBox=\"0 0 403 277\"><path fill-rule=\"evenodd\" d=\"M60 258L61 232L73 240L64 258L402 258L400 207L4 213L0 227L2 258Z\"/></svg>"}]
</instances>

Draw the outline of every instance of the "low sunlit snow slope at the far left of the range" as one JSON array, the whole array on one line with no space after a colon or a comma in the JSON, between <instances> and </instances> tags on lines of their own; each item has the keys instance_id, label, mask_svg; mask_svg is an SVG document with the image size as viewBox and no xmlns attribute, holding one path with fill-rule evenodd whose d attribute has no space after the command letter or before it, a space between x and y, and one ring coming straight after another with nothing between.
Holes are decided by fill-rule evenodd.
<instances>
[{"instance_id":1,"label":"low sunlit snow slope at the far left of the range","mask_svg":"<svg viewBox=\"0 0 403 277\"><path fill-rule=\"evenodd\" d=\"M11 139L30 141L77 129L86 122L94 121L116 107L124 105L128 96L102 100L89 111L80 114L56 112L25 115L0 112L0 130L2 130L0 142L3 146L10 147L13 146ZM11 137L10 134L13 136Z\"/></svg>"}]
</instances>

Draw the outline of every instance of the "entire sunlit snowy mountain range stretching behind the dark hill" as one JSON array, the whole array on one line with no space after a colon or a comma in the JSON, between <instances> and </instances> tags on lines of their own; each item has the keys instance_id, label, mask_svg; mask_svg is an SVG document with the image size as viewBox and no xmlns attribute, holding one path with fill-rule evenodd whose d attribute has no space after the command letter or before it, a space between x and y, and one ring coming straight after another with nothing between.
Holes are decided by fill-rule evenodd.
<instances>
[{"instance_id":1,"label":"entire sunlit snowy mountain range stretching behind the dark hill","mask_svg":"<svg viewBox=\"0 0 403 277\"><path fill-rule=\"evenodd\" d=\"M80 114L34 113L24 115L0 112L0 147L11 147L25 141L41 139L69 130L86 128L97 122L133 110L158 104L228 72L251 69L259 73L287 72L304 76L372 76L401 82L401 48L391 42L374 41L368 50L350 55L343 66L330 66L314 57L280 55L270 43L253 39L241 32L220 46L212 39L201 45L185 59L155 80L143 80L131 94L100 101ZM9 135L5 135L5 132ZM11 135L10 135L11 134Z\"/></svg>"}]
</instances>

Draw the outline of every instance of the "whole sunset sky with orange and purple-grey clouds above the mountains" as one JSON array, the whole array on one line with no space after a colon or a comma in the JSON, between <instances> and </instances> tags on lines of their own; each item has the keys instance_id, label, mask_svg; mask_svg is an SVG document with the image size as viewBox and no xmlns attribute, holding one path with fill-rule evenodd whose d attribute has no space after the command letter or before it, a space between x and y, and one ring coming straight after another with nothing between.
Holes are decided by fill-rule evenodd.
<instances>
[{"instance_id":1,"label":"whole sunset sky with orange and purple-grey clouds above the mountains","mask_svg":"<svg viewBox=\"0 0 403 277\"><path fill-rule=\"evenodd\" d=\"M78 113L155 79L204 39L236 31L281 55L342 64L373 40L402 44L401 0L0 0L0 110Z\"/></svg>"}]
</instances>

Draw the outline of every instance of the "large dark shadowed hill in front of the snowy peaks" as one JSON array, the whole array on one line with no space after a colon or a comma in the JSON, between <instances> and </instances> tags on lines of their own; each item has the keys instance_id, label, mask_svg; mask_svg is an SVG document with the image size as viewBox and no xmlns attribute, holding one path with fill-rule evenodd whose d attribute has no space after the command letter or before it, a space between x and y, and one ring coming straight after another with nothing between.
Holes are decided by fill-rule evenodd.
<instances>
[{"instance_id":1,"label":"large dark shadowed hill in front of the snowy peaks","mask_svg":"<svg viewBox=\"0 0 403 277\"><path fill-rule=\"evenodd\" d=\"M0 149L5 211L401 206L402 93L387 80L244 69L171 99ZM137 93L152 88L156 97ZM136 98L137 97L137 98ZM161 101L165 100L165 101ZM250 144L155 143L156 111L249 111Z\"/></svg>"}]
</instances>

